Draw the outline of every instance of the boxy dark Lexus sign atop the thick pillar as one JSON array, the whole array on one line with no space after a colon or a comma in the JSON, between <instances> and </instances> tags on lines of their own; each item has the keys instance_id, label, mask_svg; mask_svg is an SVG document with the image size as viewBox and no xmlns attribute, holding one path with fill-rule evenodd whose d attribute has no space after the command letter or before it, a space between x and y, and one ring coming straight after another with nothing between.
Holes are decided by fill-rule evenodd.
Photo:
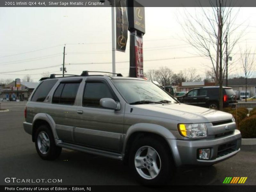
<instances>
[{"instance_id":1,"label":"boxy dark Lexus sign atop the thick pillar","mask_svg":"<svg viewBox=\"0 0 256 192\"><path fill-rule=\"evenodd\" d=\"M134 29L145 34L145 8L137 1L128 1L129 31Z\"/></svg>"}]
</instances>

